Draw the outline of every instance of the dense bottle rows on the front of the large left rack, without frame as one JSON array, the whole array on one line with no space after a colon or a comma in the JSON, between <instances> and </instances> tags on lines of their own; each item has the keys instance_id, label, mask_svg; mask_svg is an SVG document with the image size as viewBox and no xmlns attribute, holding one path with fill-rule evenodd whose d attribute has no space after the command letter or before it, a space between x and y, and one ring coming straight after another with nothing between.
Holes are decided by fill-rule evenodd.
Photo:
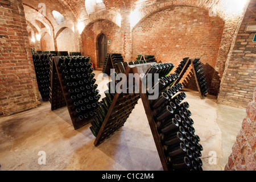
<instances>
[{"instance_id":1,"label":"dense bottle rows on the front of the large left rack, without frame","mask_svg":"<svg viewBox=\"0 0 256 182\"><path fill-rule=\"evenodd\" d=\"M72 121L84 122L97 114L101 98L94 69L85 56L59 57L57 67Z\"/></svg>"}]
</instances>

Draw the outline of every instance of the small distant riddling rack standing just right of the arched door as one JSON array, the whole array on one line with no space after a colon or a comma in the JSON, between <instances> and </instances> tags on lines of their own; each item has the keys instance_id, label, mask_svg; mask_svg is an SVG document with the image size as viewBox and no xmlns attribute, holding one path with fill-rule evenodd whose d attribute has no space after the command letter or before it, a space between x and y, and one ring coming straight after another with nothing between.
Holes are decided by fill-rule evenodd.
<instances>
[{"instance_id":1,"label":"small distant riddling rack standing just right of the arched door","mask_svg":"<svg viewBox=\"0 0 256 182\"><path fill-rule=\"evenodd\" d=\"M123 56L121 55L121 53L108 53L105 58L102 73L110 75L110 69L115 69L115 64L119 62L123 63Z\"/></svg>"}]
</instances>

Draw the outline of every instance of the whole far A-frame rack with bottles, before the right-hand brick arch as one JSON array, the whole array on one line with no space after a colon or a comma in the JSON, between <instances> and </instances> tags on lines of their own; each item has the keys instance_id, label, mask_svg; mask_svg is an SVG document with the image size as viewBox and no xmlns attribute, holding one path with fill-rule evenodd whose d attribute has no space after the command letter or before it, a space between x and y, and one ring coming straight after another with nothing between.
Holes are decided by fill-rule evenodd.
<instances>
[{"instance_id":1,"label":"whole far A-frame rack with bottles, before the right-hand brick arch","mask_svg":"<svg viewBox=\"0 0 256 182\"><path fill-rule=\"evenodd\" d=\"M195 80L196 80L196 85L199 91L199 95L201 99L203 99L204 97L206 97L205 94L208 93L209 88L207 85L207 81L205 80L203 67L201 65L199 58L185 57L183 61L180 62L179 67L177 67L175 71L179 75L179 79L175 81L175 84L181 80L181 78L184 76L185 72L187 71L190 65L192 65L193 76L195 77Z\"/></svg>"}]
</instances>

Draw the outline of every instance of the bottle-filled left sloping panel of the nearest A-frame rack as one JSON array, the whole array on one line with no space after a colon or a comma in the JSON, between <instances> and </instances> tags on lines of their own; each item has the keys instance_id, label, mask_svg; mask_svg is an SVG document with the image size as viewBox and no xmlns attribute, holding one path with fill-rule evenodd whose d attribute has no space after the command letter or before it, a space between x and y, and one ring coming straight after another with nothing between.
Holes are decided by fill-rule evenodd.
<instances>
[{"instance_id":1,"label":"bottle-filled left sloping panel of the nearest A-frame rack","mask_svg":"<svg viewBox=\"0 0 256 182\"><path fill-rule=\"evenodd\" d=\"M115 71L114 74L115 77L118 73L125 73L127 66L129 63L119 61L118 63L115 63ZM102 124L105 121L106 115L109 112L110 105L112 104L112 101L115 96L115 86L118 84L119 79L112 80L108 83L108 90L105 90L105 96L102 98L102 101L100 101L101 105L99 106L99 109L97 111L97 115L94 117L93 121L91 122L92 126L90 126L90 130L92 131L92 134L97 137ZM127 92L121 93L118 97L117 102L115 103L115 106L113 107L111 113L109 113L109 118L106 123L106 126L104 127L101 135L101 142L105 140L106 138L109 138L115 131L118 131L126 122L127 118L131 114L131 111L134 109L135 105L138 103L138 100L140 98L139 94L137 93L129 93L129 88L127 88Z\"/></svg>"}]
</instances>

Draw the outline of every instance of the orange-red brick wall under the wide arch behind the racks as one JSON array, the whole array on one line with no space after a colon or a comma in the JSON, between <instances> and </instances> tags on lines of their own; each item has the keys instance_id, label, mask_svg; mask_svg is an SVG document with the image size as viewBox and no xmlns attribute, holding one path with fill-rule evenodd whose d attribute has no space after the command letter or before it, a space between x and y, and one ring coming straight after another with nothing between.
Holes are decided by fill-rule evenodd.
<instances>
[{"instance_id":1,"label":"orange-red brick wall under the wide arch behind the racks","mask_svg":"<svg viewBox=\"0 0 256 182\"><path fill-rule=\"evenodd\" d=\"M148 16L133 31L133 56L155 55L176 67L184 57L201 57L211 84L224 22L196 7L174 7ZM175 71L174 69L174 71ZM190 70L190 69L189 69ZM184 78L187 75L184 76ZM197 89L195 81L188 88ZM218 90L212 90L217 94Z\"/></svg>"}]
</instances>

